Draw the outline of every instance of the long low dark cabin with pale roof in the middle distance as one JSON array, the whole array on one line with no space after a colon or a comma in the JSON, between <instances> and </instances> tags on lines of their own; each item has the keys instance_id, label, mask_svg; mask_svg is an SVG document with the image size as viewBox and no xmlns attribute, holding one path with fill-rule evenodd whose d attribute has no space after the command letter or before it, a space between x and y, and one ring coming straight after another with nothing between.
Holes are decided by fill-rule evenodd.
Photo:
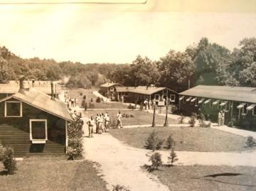
<instances>
[{"instance_id":1,"label":"long low dark cabin with pale roof in the middle distance","mask_svg":"<svg viewBox=\"0 0 256 191\"><path fill-rule=\"evenodd\" d=\"M141 104L145 99L148 99L149 101L154 100L156 104L159 104L159 102L169 99L169 103L178 103L178 93L167 87L138 86L116 87L116 89L117 100L121 100L124 97L124 102Z\"/></svg>"}]
</instances>

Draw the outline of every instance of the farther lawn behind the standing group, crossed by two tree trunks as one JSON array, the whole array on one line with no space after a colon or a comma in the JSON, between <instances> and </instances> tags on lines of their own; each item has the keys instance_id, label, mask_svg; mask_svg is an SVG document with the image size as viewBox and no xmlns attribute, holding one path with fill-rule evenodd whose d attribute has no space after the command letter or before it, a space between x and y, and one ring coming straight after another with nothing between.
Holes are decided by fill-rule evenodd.
<instances>
[{"instance_id":1,"label":"farther lawn behind the standing group, crossed by two tree trunks","mask_svg":"<svg viewBox=\"0 0 256 191\"><path fill-rule=\"evenodd\" d=\"M110 117L112 119L116 119L117 113L118 113L118 109L117 110L110 110L107 111L110 114ZM139 111L139 110L129 110L129 111L122 111L122 109L120 109L122 114L132 114L134 117L129 117L129 118L123 118L122 119L122 123L124 126L129 126L129 125L146 125L146 124L151 124L152 120L153 120L153 114L150 114L146 111ZM106 110L99 110L99 111L85 111L85 115L87 117L90 116L96 116L96 114L100 114L100 113L105 113ZM156 115L156 124L163 124L164 125L164 116L159 116ZM168 119L169 120L169 124L177 124L178 122L174 119Z\"/></svg>"}]
</instances>

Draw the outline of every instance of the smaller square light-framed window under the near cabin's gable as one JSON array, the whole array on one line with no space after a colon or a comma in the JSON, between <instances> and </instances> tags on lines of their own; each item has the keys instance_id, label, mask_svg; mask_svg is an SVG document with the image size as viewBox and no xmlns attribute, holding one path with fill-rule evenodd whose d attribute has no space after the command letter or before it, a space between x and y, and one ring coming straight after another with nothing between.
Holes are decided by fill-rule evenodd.
<instances>
[{"instance_id":1,"label":"smaller square light-framed window under the near cabin's gable","mask_svg":"<svg viewBox=\"0 0 256 191\"><path fill-rule=\"evenodd\" d=\"M21 117L22 116L22 102L6 101L4 102L4 116L5 117Z\"/></svg>"}]
</instances>

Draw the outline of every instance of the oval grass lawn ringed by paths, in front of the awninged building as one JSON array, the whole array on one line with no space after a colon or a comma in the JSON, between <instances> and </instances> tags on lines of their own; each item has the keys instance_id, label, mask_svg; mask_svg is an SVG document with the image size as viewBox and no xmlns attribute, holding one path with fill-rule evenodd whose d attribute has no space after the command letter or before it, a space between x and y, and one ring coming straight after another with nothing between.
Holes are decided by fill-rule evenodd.
<instances>
[{"instance_id":1,"label":"oval grass lawn ringed by paths, in front of the awninged building","mask_svg":"<svg viewBox=\"0 0 256 191\"><path fill-rule=\"evenodd\" d=\"M246 151L246 138L210 128L191 127L142 127L132 129L111 129L110 133L119 141L136 148L144 148L149 134L155 130L160 138L173 134L176 151L232 152Z\"/></svg>"}]
</instances>

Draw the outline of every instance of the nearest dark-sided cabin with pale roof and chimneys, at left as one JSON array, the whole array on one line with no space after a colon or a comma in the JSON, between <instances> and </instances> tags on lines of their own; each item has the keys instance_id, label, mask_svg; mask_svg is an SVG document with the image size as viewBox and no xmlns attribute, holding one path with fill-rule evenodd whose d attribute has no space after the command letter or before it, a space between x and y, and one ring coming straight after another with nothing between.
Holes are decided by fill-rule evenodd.
<instances>
[{"instance_id":1,"label":"nearest dark-sided cabin with pale roof and chimneys, at left","mask_svg":"<svg viewBox=\"0 0 256 191\"><path fill-rule=\"evenodd\" d=\"M19 84L18 92L0 99L1 143L14 148L16 157L65 153L67 126L73 121L66 105L53 94L26 89L22 79Z\"/></svg>"}]
</instances>

